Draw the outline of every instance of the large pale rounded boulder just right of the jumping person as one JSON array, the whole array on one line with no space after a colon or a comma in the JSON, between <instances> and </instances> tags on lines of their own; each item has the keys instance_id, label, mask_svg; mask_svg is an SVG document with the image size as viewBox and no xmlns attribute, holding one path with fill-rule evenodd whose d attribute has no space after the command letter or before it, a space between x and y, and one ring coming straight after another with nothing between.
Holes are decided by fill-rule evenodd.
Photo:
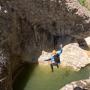
<instances>
[{"instance_id":1,"label":"large pale rounded boulder just right of the jumping person","mask_svg":"<svg viewBox=\"0 0 90 90\"><path fill-rule=\"evenodd\" d=\"M61 65L70 66L75 70L80 70L90 63L87 53L79 47L77 43L71 43L63 47L61 55Z\"/></svg>"}]
</instances>

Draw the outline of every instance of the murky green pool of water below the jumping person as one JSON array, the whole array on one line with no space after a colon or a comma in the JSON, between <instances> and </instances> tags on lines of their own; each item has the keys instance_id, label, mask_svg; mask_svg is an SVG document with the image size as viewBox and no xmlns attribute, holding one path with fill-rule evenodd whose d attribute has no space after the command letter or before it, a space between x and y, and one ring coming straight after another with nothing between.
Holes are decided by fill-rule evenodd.
<instances>
[{"instance_id":1,"label":"murky green pool of water below the jumping person","mask_svg":"<svg viewBox=\"0 0 90 90\"><path fill-rule=\"evenodd\" d=\"M14 90L59 90L71 81L87 79L89 76L90 66L79 72L70 68L54 67L54 72L51 72L50 66L26 65L15 80L13 88Z\"/></svg>"}]
</instances>

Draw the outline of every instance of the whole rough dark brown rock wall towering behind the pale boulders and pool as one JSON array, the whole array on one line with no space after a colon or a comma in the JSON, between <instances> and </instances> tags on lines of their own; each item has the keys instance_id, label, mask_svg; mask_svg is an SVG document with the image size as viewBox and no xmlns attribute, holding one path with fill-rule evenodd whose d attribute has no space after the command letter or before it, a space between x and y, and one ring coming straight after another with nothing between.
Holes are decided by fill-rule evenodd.
<instances>
[{"instance_id":1,"label":"whole rough dark brown rock wall towering behind the pale boulders and pool","mask_svg":"<svg viewBox=\"0 0 90 90\"><path fill-rule=\"evenodd\" d=\"M70 43L74 38L90 35L89 24L90 12L77 0L0 0L0 48L9 54L6 60L11 63L0 75L8 72L7 78L11 78L22 60L38 57L43 49L66 44L66 39ZM1 79L1 90L11 90L7 81L1 84Z\"/></svg>"}]
</instances>

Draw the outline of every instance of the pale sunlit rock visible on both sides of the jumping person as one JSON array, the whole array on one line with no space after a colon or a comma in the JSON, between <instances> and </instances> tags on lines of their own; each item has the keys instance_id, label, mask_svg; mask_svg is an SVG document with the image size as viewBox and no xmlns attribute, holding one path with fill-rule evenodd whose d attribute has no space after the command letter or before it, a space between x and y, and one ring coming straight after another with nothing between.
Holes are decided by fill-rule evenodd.
<instances>
[{"instance_id":1,"label":"pale sunlit rock visible on both sides of the jumping person","mask_svg":"<svg viewBox=\"0 0 90 90\"><path fill-rule=\"evenodd\" d=\"M82 67L90 64L90 59L85 52L81 49L77 43L71 43L63 47L63 52L60 55L60 66L71 67L74 70L80 70ZM43 65L50 64L48 60L52 56L51 52L42 51L42 54L38 58L38 62Z\"/></svg>"}]
</instances>

